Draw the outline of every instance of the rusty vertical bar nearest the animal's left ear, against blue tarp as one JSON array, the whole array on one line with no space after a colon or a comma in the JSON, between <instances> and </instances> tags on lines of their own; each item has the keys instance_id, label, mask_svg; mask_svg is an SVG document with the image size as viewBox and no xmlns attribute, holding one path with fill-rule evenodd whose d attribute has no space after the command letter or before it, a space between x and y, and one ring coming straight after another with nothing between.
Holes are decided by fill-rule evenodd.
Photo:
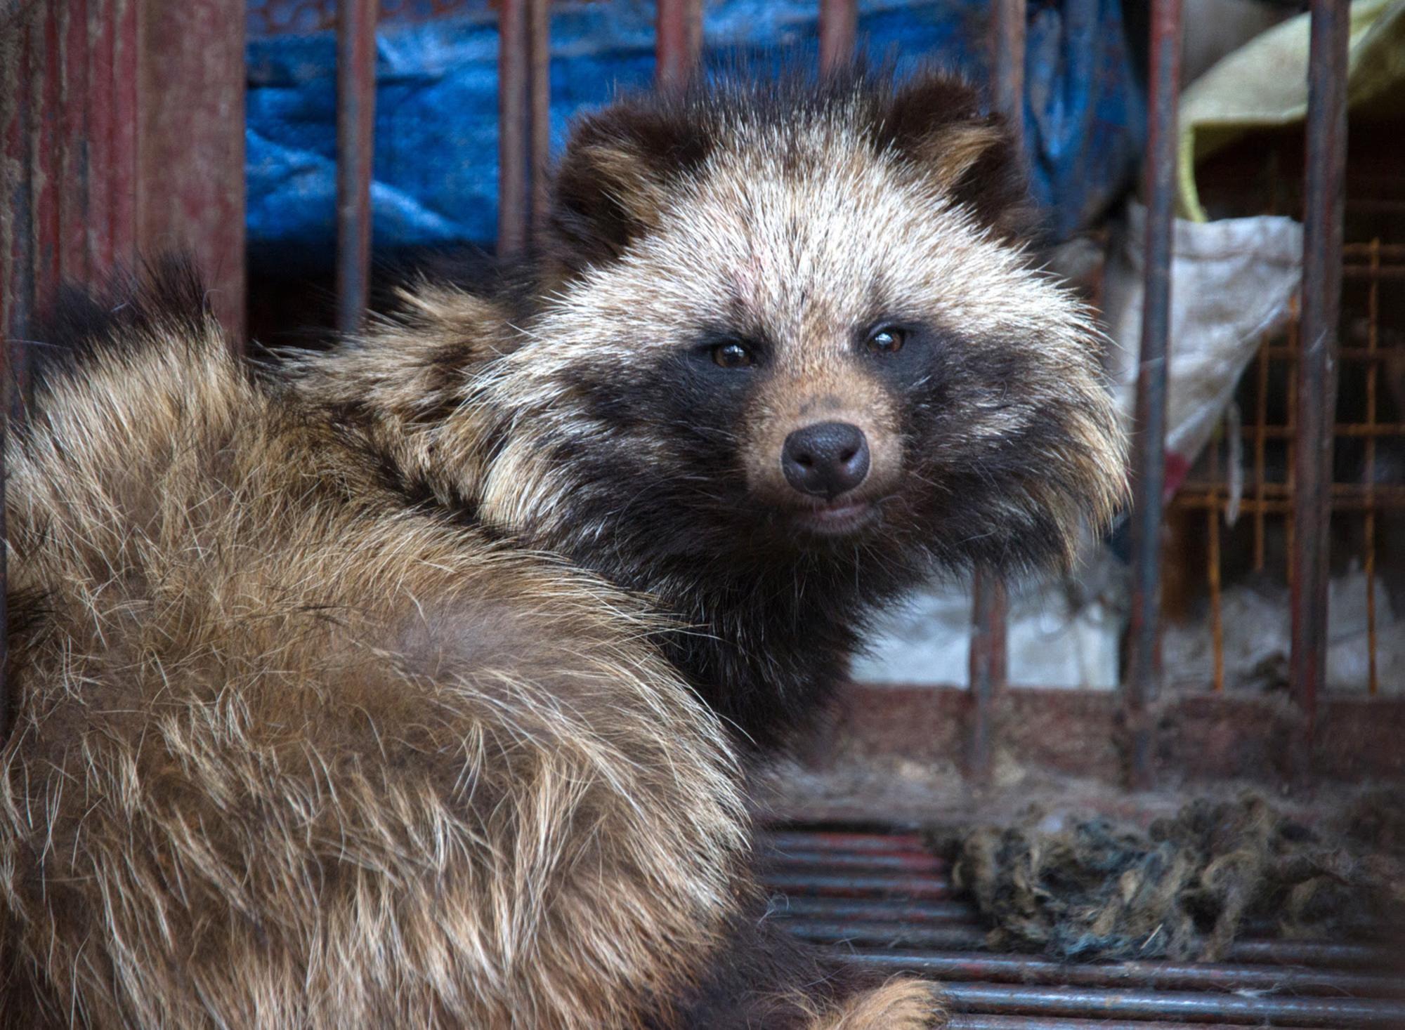
<instances>
[{"instance_id":1,"label":"rusty vertical bar nearest the animal's left ear, against blue tarp","mask_svg":"<svg viewBox=\"0 0 1405 1030\"><path fill-rule=\"evenodd\" d=\"M528 87L527 0L502 0L497 8L497 254L527 246Z\"/></svg>"}]
</instances>

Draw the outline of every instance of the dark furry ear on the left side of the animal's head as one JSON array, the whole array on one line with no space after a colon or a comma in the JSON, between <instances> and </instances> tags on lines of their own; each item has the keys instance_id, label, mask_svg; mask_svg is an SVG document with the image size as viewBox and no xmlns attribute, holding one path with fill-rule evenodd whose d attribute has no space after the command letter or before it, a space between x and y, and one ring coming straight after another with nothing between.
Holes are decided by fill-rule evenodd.
<instances>
[{"instance_id":1,"label":"dark furry ear on the left side of the animal's head","mask_svg":"<svg viewBox=\"0 0 1405 1030\"><path fill-rule=\"evenodd\" d=\"M620 257L658 225L670 184L710 149L681 108L622 101L579 122L556 170L548 251L568 274Z\"/></svg>"}]
</instances>

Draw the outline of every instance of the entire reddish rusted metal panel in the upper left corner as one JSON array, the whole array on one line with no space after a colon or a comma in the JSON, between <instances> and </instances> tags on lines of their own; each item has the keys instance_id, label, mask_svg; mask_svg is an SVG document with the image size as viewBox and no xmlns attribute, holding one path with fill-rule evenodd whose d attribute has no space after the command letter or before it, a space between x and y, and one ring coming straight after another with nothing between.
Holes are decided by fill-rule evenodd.
<instances>
[{"instance_id":1,"label":"entire reddish rusted metal panel in the upper left corner","mask_svg":"<svg viewBox=\"0 0 1405 1030\"><path fill-rule=\"evenodd\" d=\"M34 314L62 279L101 286L131 268L139 237L150 254L191 253L216 312L235 333L243 323L243 6L153 4L143 18L142 3L52 0L6 15L0 334L14 420Z\"/></svg>"}]
</instances>

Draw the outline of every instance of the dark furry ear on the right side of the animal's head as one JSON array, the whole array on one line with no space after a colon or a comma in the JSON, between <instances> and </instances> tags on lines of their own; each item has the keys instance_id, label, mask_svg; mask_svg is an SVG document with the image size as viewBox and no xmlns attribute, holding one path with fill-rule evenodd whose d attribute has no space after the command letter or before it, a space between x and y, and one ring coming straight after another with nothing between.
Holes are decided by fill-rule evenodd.
<instances>
[{"instance_id":1,"label":"dark furry ear on the right side of the animal's head","mask_svg":"<svg viewBox=\"0 0 1405 1030\"><path fill-rule=\"evenodd\" d=\"M984 115L975 90L940 73L899 87L880 111L880 147L891 147L943 194L989 226L1013 232L1024 218L1026 182L1000 115Z\"/></svg>"}]
</instances>

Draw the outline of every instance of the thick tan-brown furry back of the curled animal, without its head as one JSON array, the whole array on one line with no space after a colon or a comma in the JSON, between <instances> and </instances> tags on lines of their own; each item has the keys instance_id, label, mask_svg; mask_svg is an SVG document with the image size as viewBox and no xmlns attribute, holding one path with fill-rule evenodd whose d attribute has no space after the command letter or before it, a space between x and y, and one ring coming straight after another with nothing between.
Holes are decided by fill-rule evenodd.
<instances>
[{"instance_id":1,"label":"thick tan-brown furry back of the curled animal, without its head","mask_svg":"<svg viewBox=\"0 0 1405 1030\"><path fill-rule=\"evenodd\" d=\"M745 846L629 596L138 312L13 435L7 1026L634 1026Z\"/></svg>"}]
</instances>

